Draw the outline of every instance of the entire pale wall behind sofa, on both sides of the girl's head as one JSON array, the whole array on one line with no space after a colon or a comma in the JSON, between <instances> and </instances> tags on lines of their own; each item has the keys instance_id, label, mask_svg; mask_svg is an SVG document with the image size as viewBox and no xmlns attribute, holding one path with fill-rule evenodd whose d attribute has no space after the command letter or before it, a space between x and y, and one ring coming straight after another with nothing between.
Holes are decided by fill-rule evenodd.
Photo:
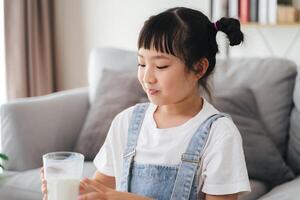
<instances>
[{"instance_id":1,"label":"entire pale wall behind sofa, on both sides of the girl's head","mask_svg":"<svg viewBox=\"0 0 300 200\"><path fill-rule=\"evenodd\" d=\"M58 89L87 85L88 55L92 48L112 46L136 50L138 33L143 22L149 16L175 6L191 7L208 14L210 1L55 0ZM230 56L283 56L296 59L300 63L297 53L300 47L299 26L248 26L243 29L246 34L245 44L230 47ZM222 34L218 34L217 39L221 52L219 57L224 57L226 40L222 39ZM292 45L288 45L289 42Z\"/></svg>"}]
</instances>

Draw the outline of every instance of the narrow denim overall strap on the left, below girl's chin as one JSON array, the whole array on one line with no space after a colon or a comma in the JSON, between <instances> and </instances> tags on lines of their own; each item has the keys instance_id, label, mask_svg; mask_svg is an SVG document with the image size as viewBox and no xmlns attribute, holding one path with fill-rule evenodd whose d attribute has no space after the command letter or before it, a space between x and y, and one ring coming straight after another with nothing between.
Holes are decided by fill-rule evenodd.
<instances>
[{"instance_id":1,"label":"narrow denim overall strap on the left, below girl's chin","mask_svg":"<svg viewBox=\"0 0 300 200\"><path fill-rule=\"evenodd\" d=\"M128 128L127 147L123 156L123 170L120 182L120 190L128 192L129 174L133 158L135 156L135 147L140 133L143 119L149 103L136 104L132 113L131 121Z\"/></svg>"}]
</instances>

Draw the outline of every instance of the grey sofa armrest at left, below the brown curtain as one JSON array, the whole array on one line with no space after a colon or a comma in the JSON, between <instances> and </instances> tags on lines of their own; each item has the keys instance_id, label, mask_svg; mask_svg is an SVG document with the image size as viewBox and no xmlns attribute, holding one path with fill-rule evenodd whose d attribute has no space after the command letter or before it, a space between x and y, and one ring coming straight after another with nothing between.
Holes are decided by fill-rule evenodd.
<instances>
[{"instance_id":1,"label":"grey sofa armrest at left, below the brown curtain","mask_svg":"<svg viewBox=\"0 0 300 200\"><path fill-rule=\"evenodd\" d=\"M23 98L0 108L1 152L7 170L40 167L42 155L72 151L89 108L88 88Z\"/></svg>"}]
</instances>

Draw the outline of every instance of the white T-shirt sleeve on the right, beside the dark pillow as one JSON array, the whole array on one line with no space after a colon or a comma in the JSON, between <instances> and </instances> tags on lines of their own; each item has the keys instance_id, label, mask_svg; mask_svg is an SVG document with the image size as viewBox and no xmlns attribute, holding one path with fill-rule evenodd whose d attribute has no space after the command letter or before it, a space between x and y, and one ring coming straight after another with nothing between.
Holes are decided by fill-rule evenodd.
<instances>
[{"instance_id":1,"label":"white T-shirt sleeve on the right, beside the dark pillow","mask_svg":"<svg viewBox=\"0 0 300 200\"><path fill-rule=\"evenodd\" d=\"M213 126L215 127L213 128ZM202 192L226 195L250 191L241 135L229 119L212 126L212 139L203 155ZM214 137L214 136L212 136Z\"/></svg>"}]
</instances>

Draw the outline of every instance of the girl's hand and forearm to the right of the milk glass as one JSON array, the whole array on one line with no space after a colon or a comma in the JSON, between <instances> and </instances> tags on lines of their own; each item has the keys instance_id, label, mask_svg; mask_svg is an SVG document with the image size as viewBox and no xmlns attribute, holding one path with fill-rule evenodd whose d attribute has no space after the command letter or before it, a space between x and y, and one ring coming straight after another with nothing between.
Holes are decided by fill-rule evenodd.
<instances>
[{"instance_id":1,"label":"girl's hand and forearm to the right of the milk glass","mask_svg":"<svg viewBox=\"0 0 300 200\"><path fill-rule=\"evenodd\" d=\"M80 182L80 196L77 200L149 200L150 198L138 196L133 193L119 192L109 188L98 181L85 178Z\"/></svg>"}]
</instances>

